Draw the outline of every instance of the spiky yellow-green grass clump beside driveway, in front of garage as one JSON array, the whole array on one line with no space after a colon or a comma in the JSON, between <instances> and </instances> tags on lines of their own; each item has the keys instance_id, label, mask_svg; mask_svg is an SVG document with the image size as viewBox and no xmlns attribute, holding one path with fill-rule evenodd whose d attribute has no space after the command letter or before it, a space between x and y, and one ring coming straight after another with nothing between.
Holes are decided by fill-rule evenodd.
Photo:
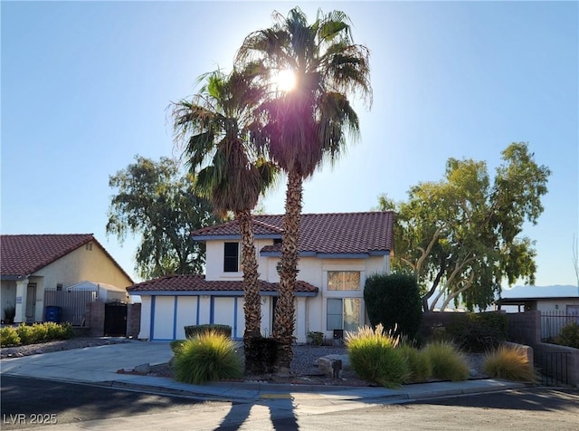
<instances>
[{"instance_id":1,"label":"spiky yellow-green grass clump beside driveway, in front of garage","mask_svg":"<svg viewBox=\"0 0 579 431\"><path fill-rule=\"evenodd\" d=\"M215 330L185 340L176 351L173 366L176 380L195 385L242 377L242 361L234 341Z\"/></svg>"}]
</instances>

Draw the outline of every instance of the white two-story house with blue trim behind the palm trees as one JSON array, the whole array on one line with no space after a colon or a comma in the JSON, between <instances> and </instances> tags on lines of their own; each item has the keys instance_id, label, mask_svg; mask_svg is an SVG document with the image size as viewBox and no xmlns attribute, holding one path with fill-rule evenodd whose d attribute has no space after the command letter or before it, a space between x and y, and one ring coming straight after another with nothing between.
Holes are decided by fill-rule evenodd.
<instances>
[{"instance_id":1,"label":"white two-story house with blue trim behind the palm trees","mask_svg":"<svg viewBox=\"0 0 579 431\"><path fill-rule=\"evenodd\" d=\"M364 284L368 275L390 272L392 212L304 214L299 234L296 286L298 342L308 331L332 338L334 330L364 325ZM261 333L271 335L277 301L282 216L253 216L260 273ZM197 230L193 239L206 246L205 275L172 275L134 284L141 296L139 339L185 338L184 326L231 325L233 337L244 330L241 236L237 221Z\"/></svg>"}]
</instances>

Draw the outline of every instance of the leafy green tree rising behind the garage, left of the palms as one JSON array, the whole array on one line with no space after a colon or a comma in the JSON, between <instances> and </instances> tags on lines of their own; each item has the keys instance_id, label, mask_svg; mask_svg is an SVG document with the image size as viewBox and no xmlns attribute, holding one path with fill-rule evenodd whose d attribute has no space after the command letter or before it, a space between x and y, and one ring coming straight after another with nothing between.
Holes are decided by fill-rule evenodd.
<instances>
[{"instance_id":1,"label":"leafy green tree rising behind the garage, left of the palms","mask_svg":"<svg viewBox=\"0 0 579 431\"><path fill-rule=\"evenodd\" d=\"M115 189L107 233L123 241L140 235L135 269L144 279L172 273L203 273L204 249L189 233L222 220L209 202L195 194L194 177L175 160L135 157L135 163L109 177Z\"/></svg>"}]
</instances>

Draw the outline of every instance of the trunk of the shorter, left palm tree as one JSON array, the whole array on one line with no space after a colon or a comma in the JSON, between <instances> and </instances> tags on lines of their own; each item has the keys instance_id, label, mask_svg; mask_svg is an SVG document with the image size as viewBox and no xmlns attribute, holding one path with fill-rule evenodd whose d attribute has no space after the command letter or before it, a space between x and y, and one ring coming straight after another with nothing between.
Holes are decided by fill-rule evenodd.
<instances>
[{"instance_id":1,"label":"trunk of the shorter, left palm tree","mask_svg":"<svg viewBox=\"0 0 579 431\"><path fill-rule=\"evenodd\" d=\"M235 218L239 223L242 236L242 268L243 268L243 313L245 315L245 331L243 332L243 351L245 353L245 372L261 374L260 355L254 350L259 347L255 339L261 339L261 298L260 274L257 272L257 257L253 241L252 213L249 209L236 211Z\"/></svg>"}]
</instances>

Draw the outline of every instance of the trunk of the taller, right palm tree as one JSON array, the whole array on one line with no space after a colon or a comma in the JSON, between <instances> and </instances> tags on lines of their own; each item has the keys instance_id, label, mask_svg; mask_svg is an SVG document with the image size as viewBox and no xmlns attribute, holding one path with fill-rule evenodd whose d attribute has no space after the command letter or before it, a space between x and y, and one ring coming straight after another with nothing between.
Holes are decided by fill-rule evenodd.
<instances>
[{"instance_id":1,"label":"trunk of the taller, right palm tree","mask_svg":"<svg viewBox=\"0 0 579 431\"><path fill-rule=\"evenodd\" d=\"M286 213L283 217L281 241L281 271L278 304L273 322L273 337L278 340L276 368L289 374L293 351L293 331L296 326L295 292L298 275L299 218L301 215L302 177L289 172L286 190Z\"/></svg>"}]
</instances>

